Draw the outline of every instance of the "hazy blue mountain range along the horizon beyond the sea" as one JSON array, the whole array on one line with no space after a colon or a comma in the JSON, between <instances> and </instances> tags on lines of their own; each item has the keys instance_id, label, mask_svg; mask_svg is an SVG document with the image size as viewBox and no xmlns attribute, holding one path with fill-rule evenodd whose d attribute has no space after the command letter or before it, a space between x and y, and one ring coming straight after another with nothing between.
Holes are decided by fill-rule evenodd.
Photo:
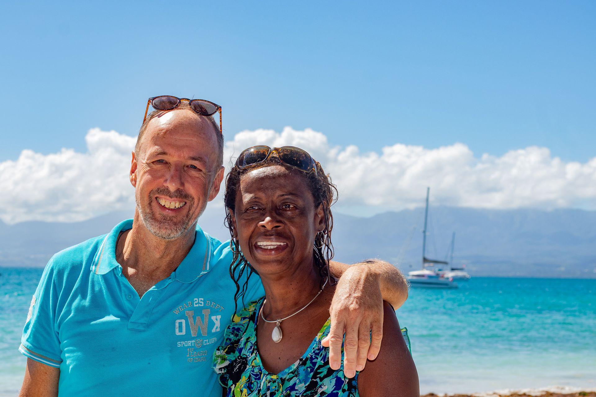
<instances>
[{"instance_id":1,"label":"hazy blue mountain range along the horizon beyond the sea","mask_svg":"<svg viewBox=\"0 0 596 397\"><path fill-rule=\"evenodd\" d=\"M334 214L336 260L378 257L402 271L420 268L423 208L370 218ZM228 239L221 207L208 209L201 227ZM0 266L42 267L57 251L103 235L132 217L112 212L76 223L0 222ZM454 263L472 276L573 277L596 279L596 211L474 210L432 207L427 257L445 260L456 232Z\"/></svg>"}]
</instances>

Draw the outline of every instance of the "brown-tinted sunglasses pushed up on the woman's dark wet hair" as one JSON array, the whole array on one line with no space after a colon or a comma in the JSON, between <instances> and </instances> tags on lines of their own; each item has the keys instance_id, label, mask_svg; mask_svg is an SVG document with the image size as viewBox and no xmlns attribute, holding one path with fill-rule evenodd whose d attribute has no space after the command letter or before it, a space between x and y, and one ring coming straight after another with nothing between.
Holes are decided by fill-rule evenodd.
<instances>
[{"instance_id":1,"label":"brown-tinted sunglasses pushed up on the woman's dark wet hair","mask_svg":"<svg viewBox=\"0 0 596 397\"><path fill-rule=\"evenodd\" d=\"M270 156L277 157L282 164L297 170L309 173L315 171L315 160L300 148L294 146L283 146L281 148L269 148L269 146L252 146L245 149L236 160L236 167L240 170L252 167L266 161Z\"/></svg>"}]
</instances>

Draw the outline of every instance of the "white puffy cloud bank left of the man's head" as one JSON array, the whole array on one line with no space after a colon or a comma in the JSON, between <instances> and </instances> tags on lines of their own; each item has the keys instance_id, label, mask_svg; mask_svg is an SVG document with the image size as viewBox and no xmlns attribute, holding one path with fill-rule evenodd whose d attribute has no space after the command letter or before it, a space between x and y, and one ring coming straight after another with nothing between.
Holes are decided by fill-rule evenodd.
<instances>
[{"instance_id":1,"label":"white puffy cloud bank left of the man's head","mask_svg":"<svg viewBox=\"0 0 596 397\"><path fill-rule=\"evenodd\" d=\"M7 187L0 219L77 221L132 208L128 171L136 138L91 129L85 142L86 153L24 150L16 161L0 162L0 184Z\"/></svg>"}]
</instances>

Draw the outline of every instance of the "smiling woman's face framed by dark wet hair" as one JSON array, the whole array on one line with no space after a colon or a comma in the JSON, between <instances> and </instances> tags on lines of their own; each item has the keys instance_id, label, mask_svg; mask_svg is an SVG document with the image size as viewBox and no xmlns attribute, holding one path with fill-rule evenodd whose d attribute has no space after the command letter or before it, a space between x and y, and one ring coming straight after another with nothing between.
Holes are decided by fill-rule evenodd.
<instances>
[{"instance_id":1,"label":"smiling woman's face framed by dark wet hair","mask_svg":"<svg viewBox=\"0 0 596 397\"><path fill-rule=\"evenodd\" d=\"M312 267L316 233L324 229L322 205L301 171L281 165L244 174L232 214L244 257L261 275Z\"/></svg>"}]
</instances>

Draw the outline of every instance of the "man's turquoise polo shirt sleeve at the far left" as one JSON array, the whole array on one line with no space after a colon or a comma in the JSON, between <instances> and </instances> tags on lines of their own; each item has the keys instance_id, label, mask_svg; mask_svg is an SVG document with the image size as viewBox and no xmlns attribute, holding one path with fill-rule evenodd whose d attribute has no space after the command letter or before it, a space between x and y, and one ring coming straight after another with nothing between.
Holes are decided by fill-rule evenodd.
<instances>
[{"instance_id":1,"label":"man's turquoise polo shirt sleeve at the far left","mask_svg":"<svg viewBox=\"0 0 596 397\"><path fill-rule=\"evenodd\" d=\"M56 328L58 290L54 258L49 260L33 295L18 350L32 360L60 368L60 339Z\"/></svg>"}]
</instances>

